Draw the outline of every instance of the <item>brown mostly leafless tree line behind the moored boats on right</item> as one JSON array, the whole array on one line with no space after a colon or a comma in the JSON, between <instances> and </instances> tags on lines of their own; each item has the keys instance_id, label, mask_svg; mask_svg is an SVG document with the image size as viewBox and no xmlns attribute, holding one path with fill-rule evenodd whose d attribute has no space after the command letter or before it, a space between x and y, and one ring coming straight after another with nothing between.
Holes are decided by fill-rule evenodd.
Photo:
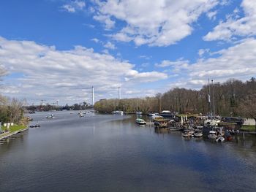
<instances>
[{"instance_id":1,"label":"brown mostly leafless tree line behind the moored boats on right","mask_svg":"<svg viewBox=\"0 0 256 192\"><path fill-rule=\"evenodd\" d=\"M209 92L210 88L210 92ZM178 113L207 114L211 108L222 116L244 116L255 118L256 80L252 77L246 82L230 79L226 82L211 82L199 91L187 88L173 88L156 96L134 99L102 99L94 104L94 110L112 112L161 112L170 110Z\"/></svg>"}]
</instances>

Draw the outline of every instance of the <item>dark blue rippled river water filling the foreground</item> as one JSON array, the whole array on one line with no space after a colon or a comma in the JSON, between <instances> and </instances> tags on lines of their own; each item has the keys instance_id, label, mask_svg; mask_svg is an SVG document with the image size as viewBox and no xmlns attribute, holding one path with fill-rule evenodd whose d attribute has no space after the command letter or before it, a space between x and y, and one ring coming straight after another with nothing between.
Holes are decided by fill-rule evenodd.
<instances>
[{"instance_id":1,"label":"dark blue rippled river water filling the foreground","mask_svg":"<svg viewBox=\"0 0 256 192\"><path fill-rule=\"evenodd\" d=\"M48 112L0 143L0 191L256 191L256 137L216 143L135 116Z\"/></svg>"}]
</instances>

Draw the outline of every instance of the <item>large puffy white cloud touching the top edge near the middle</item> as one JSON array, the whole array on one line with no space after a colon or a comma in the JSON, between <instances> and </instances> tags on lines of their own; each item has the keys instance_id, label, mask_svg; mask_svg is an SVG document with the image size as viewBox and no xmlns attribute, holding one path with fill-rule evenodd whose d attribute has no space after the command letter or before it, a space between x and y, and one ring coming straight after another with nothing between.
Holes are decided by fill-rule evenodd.
<instances>
[{"instance_id":1,"label":"large puffy white cloud touching the top edge near the middle","mask_svg":"<svg viewBox=\"0 0 256 192\"><path fill-rule=\"evenodd\" d=\"M126 23L120 31L110 35L117 41L133 41L136 45L167 46L191 34L192 23L220 2L222 1L96 1L97 13L94 19L104 22L107 29L114 27L113 19Z\"/></svg>"}]
</instances>

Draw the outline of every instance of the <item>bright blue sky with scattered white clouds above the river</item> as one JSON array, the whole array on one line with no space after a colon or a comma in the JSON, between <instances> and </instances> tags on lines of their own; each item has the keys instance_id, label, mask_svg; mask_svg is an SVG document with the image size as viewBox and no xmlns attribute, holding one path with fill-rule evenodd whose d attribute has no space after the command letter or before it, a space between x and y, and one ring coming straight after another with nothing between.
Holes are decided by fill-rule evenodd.
<instances>
[{"instance_id":1,"label":"bright blue sky with scattered white clouds above the river","mask_svg":"<svg viewBox=\"0 0 256 192\"><path fill-rule=\"evenodd\" d=\"M2 0L4 96L91 103L256 74L255 0ZM3 72L4 71L4 72Z\"/></svg>"}]
</instances>

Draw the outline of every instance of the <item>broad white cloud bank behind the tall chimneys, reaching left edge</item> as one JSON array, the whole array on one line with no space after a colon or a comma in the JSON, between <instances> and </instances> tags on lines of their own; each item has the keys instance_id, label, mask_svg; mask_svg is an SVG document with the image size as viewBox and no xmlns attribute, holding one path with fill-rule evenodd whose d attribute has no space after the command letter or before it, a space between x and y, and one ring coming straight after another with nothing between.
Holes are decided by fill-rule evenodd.
<instances>
[{"instance_id":1,"label":"broad white cloud bank behind the tall chimneys, reaching left edge","mask_svg":"<svg viewBox=\"0 0 256 192\"><path fill-rule=\"evenodd\" d=\"M90 101L91 85L97 99L122 88L134 88L140 82L163 80L161 72L138 72L134 65L109 54L95 53L93 49L76 46L73 50L56 50L55 47L36 42L15 41L0 37L0 61L10 74L20 77L5 78L3 83L17 93L5 91L7 96L27 98L28 101L60 100L60 104L73 101ZM29 86L28 86L29 85ZM86 90L87 95L84 96Z\"/></svg>"}]
</instances>

